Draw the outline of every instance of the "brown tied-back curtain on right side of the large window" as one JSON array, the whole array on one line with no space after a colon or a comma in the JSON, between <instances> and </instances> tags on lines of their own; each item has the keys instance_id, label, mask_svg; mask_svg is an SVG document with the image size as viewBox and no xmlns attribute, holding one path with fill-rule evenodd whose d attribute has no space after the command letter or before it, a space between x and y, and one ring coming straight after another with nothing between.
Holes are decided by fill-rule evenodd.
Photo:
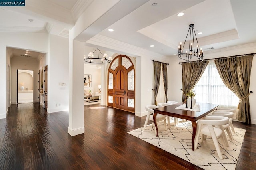
<instances>
[{"instance_id":1,"label":"brown tied-back curtain on right side of the large window","mask_svg":"<svg viewBox=\"0 0 256 170\"><path fill-rule=\"evenodd\" d=\"M224 84L240 99L238 120L251 123L249 86L253 55L216 59L215 64Z\"/></svg>"}]
</instances>

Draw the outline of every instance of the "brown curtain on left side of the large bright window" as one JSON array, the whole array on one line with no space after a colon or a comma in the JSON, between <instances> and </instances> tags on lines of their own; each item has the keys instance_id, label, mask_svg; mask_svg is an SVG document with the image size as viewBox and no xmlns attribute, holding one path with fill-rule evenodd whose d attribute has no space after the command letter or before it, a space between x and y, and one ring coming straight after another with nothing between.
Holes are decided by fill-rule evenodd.
<instances>
[{"instance_id":1,"label":"brown curtain on left side of the large bright window","mask_svg":"<svg viewBox=\"0 0 256 170\"><path fill-rule=\"evenodd\" d=\"M209 61L182 63L182 101L186 99L184 94L194 88L208 63Z\"/></svg>"}]
</instances>

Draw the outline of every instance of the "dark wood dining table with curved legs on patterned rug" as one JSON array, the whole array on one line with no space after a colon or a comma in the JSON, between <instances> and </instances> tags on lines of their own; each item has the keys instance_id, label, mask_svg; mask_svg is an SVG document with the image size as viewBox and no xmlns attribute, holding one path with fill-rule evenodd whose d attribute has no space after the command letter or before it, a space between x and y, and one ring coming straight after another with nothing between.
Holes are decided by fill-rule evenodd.
<instances>
[{"instance_id":1,"label":"dark wood dining table with curved legs on patterned rug","mask_svg":"<svg viewBox=\"0 0 256 170\"><path fill-rule=\"evenodd\" d=\"M194 109L176 109L177 107L180 107L181 105L186 105L186 103L176 103L173 105L168 105L164 107L159 107L154 109L154 115L153 115L153 120L154 120L154 125L156 128L156 137L158 136L158 128L157 128L157 123L156 123L156 117L158 114L170 116L170 117L177 117L180 119L186 119L188 121L191 121L192 123L192 150L194 150L194 140L196 136L196 127L199 119L202 117L208 115L209 113L212 113L214 110L218 108L218 105L216 104L211 104L211 103L196 103L196 107L198 107L200 111L192 111ZM194 107L195 107L194 106Z\"/></svg>"}]
</instances>

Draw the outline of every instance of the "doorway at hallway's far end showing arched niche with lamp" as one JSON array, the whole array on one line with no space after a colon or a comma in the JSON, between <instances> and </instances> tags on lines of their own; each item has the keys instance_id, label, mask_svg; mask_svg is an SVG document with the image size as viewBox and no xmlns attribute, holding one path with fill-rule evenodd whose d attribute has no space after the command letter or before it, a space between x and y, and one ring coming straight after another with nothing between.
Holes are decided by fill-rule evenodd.
<instances>
[{"instance_id":1,"label":"doorway at hallway's far end showing arched niche with lamp","mask_svg":"<svg viewBox=\"0 0 256 170\"><path fill-rule=\"evenodd\" d=\"M17 103L32 103L34 96L34 71L17 70Z\"/></svg>"}]
</instances>

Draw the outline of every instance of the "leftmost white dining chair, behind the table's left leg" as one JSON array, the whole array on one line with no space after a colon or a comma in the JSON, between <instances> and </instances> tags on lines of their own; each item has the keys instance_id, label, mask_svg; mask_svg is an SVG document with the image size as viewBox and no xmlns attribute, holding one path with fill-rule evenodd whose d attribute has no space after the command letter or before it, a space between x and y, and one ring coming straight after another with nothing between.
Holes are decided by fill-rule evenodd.
<instances>
[{"instance_id":1,"label":"leftmost white dining chair, behind the table's left leg","mask_svg":"<svg viewBox=\"0 0 256 170\"><path fill-rule=\"evenodd\" d=\"M156 105L146 105L146 111L148 111L148 114L147 114L147 117L146 117L146 121L145 121L143 130L146 129L146 126L148 125L148 120L154 121L153 115L154 115L155 112L154 112L153 109L156 109L156 108L159 108L159 106L156 106ZM164 127L165 127L165 130L166 130L166 116L165 115L161 115L161 114L157 114L156 122L158 123L160 121L164 121ZM153 123L153 125L154 125L154 123ZM154 130L155 130L155 134L156 134L156 128Z\"/></svg>"}]
</instances>

